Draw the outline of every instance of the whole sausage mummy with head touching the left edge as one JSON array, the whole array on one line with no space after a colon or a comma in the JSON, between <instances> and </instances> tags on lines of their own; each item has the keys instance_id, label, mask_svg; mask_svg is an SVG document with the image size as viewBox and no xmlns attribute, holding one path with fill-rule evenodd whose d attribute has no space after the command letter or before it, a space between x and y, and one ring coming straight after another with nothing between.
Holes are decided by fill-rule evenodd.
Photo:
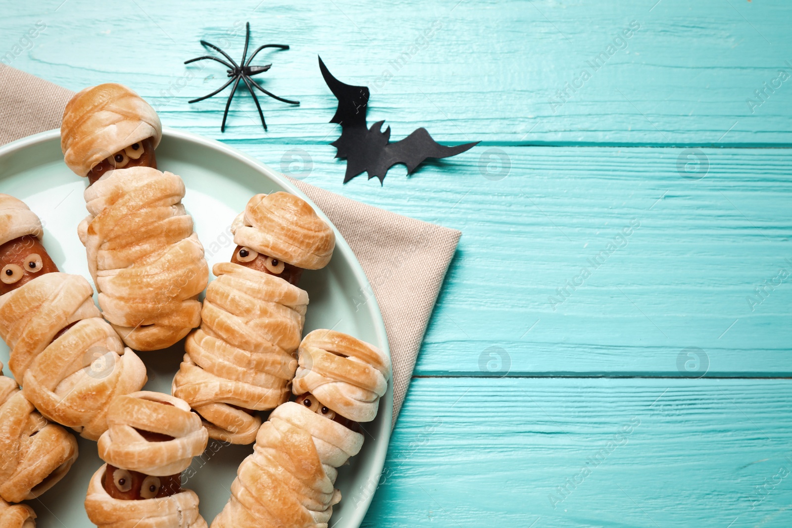
<instances>
[{"instance_id":1,"label":"whole sausage mummy with head touching the left edge","mask_svg":"<svg viewBox=\"0 0 792 528\"><path fill-rule=\"evenodd\" d=\"M8 367L45 418L95 440L107 429L109 401L143 387L146 367L101 318L88 281L58 272L40 236L25 203L0 195L0 281L7 288L0 336L10 348Z\"/></svg>"}]
</instances>

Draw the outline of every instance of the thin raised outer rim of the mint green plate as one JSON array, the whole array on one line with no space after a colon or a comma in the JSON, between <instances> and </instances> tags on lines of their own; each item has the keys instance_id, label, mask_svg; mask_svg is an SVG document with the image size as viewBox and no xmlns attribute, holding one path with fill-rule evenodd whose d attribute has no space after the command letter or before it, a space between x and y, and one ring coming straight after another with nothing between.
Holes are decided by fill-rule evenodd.
<instances>
[{"instance_id":1,"label":"thin raised outer rim of the mint green plate","mask_svg":"<svg viewBox=\"0 0 792 528\"><path fill-rule=\"evenodd\" d=\"M235 158L237 161L241 161L242 163L249 165L252 169L257 170L257 172L261 173L264 177L274 180L276 184L286 188L288 192L291 192L292 194L304 199L310 204L311 207L314 208L314 211L316 211L317 214L323 220L325 220L329 226L332 227L333 232L336 235L336 250L341 249L341 253L347 257L347 260L350 263L350 268L352 268L352 272L355 275L358 283L366 287L366 291L373 291L371 283L369 283L363 267L360 265L360 261L357 260L357 256L355 256L355 253L352 251L352 248L348 245L341 232L337 229L333 222L327 218L327 215L325 215L324 211L322 211L322 209L319 208L312 199L310 199L303 191L301 191L286 176L284 176L284 174L270 168L264 162L253 158L249 154L246 154L241 150L234 148L233 146L229 146L223 142L220 142L217 139L211 139L203 135L198 135L189 131L166 126L162 127L162 135L173 139L180 139L186 142L198 143L211 150L219 152L219 154L224 154L230 156L231 158ZM0 145L0 159L5 158L7 155L25 150L31 146L55 141L56 139L58 141L60 140L59 128L53 128L48 131L42 131L36 134L25 136L24 138L16 139L12 142L6 143L5 145ZM0 177L0 179L2 179L2 177ZM388 342L387 332L385 329L385 321L383 320L381 310L379 310L379 302L377 301L376 296L372 295L372 298L374 302L367 302L367 305L369 305L368 310L370 310L372 318L374 319L375 334L378 336L380 343L384 345L382 349L388 355L388 358L392 364L393 358L390 355L390 343ZM380 405L378 417L383 420L383 428L386 429L386 434L380 435L380 438L377 439L378 441L374 446L375 453L373 458L375 460L376 469L375 472L371 473L371 477L375 477L377 482L379 482L380 477L382 477L383 469L385 468L385 458L388 445L390 443L390 433L392 432L391 424L393 423L393 393L393 376L391 375L386 394L383 398L380 398L383 403ZM367 514L369 507L371 506L371 501L373 500L374 495L374 492L365 493L363 499L355 503L355 510L350 512L352 513L352 526L360 526L360 524L362 524L363 519Z\"/></svg>"}]
</instances>

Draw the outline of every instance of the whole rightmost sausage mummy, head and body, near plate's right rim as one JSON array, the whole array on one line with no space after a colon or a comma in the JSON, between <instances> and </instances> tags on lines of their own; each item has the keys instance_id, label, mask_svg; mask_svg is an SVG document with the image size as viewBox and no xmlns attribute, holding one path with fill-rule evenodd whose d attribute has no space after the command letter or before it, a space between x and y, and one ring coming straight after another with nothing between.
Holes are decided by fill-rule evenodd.
<instances>
[{"instance_id":1,"label":"whole rightmost sausage mummy, head and body, near plate's right rim","mask_svg":"<svg viewBox=\"0 0 792 528\"><path fill-rule=\"evenodd\" d=\"M318 354L320 347L328 354L350 355L328 359ZM371 416L372 407L376 414L379 401L369 389L358 393L355 388L360 387L353 378L363 374L375 380L363 385L379 390L379 381L390 378L390 359L370 344L329 330L311 332L299 350L303 369L307 368L303 355L310 354L322 367L323 377L335 381L315 385L322 397L301 393L296 402L272 411L258 431L253 454L239 466L230 499L212 528L326 528L333 505L341 500L341 492L334 487L337 468L363 446L363 435L356 431L352 416ZM369 368L358 369L350 363ZM348 382L349 387L345 386ZM333 383L341 386L325 387ZM298 392L296 383L294 391ZM357 399L350 401L350 395Z\"/></svg>"}]
</instances>

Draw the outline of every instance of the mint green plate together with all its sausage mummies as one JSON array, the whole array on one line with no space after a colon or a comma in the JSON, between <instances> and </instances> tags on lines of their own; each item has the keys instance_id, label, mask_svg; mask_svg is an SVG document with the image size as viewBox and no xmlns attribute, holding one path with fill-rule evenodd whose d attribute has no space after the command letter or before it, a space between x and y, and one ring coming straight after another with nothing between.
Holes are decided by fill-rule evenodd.
<instances>
[{"instance_id":1,"label":"mint green plate together with all its sausage mummies","mask_svg":"<svg viewBox=\"0 0 792 528\"><path fill-rule=\"evenodd\" d=\"M393 391L307 196L131 89L0 147L0 527L360 526Z\"/></svg>"}]
</instances>

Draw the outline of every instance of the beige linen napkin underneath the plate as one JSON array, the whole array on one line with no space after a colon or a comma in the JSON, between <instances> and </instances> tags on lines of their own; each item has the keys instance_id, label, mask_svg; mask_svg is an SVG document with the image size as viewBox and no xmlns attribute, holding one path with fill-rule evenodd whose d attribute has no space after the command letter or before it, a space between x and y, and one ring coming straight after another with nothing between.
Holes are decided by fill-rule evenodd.
<instances>
[{"instance_id":1,"label":"beige linen napkin underneath the plate","mask_svg":"<svg viewBox=\"0 0 792 528\"><path fill-rule=\"evenodd\" d=\"M74 92L0 64L0 145L60 127ZM337 227L360 260L383 313L394 368L394 424L443 278L461 233L396 215L293 180Z\"/></svg>"}]
</instances>

